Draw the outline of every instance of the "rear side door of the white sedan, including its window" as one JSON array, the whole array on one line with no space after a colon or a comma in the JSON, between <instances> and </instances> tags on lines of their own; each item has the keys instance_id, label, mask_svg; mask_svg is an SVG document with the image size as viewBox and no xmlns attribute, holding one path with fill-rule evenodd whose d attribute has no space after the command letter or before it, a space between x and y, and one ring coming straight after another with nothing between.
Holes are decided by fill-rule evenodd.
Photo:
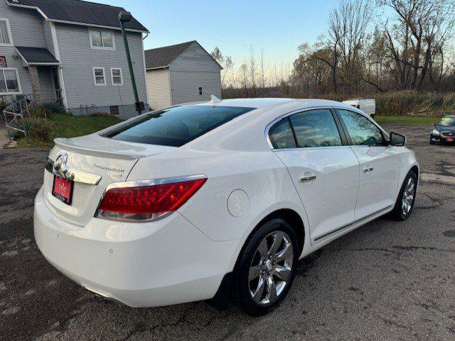
<instances>
[{"instance_id":1,"label":"rear side door of the white sedan, including its window","mask_svg":"<svg viewBox=\"0 0 455 341\"><path fill-rule=\"evenodd\" d=\"M330 108L282 118L269 129L269 140L299 193L312 242L353 222L359 162Z\"/></svg>"}]
</instances>

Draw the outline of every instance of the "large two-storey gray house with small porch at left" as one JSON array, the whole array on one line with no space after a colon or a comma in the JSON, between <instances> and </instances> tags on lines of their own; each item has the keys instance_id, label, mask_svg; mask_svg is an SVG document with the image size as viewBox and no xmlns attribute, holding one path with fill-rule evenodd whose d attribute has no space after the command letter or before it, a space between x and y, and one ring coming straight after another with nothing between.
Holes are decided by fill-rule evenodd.
<instances>
[{"instance_id":1,"label":"large two-storey gray house with small porch at left","mask_svg":"<svg viewBox=\"0 0 455 341\"><path fill-rule=\"evenodd\" d=\"M60 100L75 115L134 116L118 20L123 9L80 0L0 0L0 96ZM148 108L142 35L126 23L139 101Z\"/></svg>"}]
</instances>

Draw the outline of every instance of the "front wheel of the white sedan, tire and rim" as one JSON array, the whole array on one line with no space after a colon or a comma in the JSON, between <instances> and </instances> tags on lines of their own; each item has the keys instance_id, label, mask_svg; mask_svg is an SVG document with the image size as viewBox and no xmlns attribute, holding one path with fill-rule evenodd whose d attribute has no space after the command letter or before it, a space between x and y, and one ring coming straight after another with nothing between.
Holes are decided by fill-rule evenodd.
<instances>
[{"instance_id":1,"label":"front wheel of the white sedan, tire and rim","mask_svg":"<svg viewBox=\"0 0 455 341\"><path fill-rule=\"evenodd\" d=\"M414 208L416 191L417 174L411 170L407 173L405 181L403 181L395 207L390 213L391 218L395 220L406 220L410 217L412 208Z\"/></svg>"}]
</instances>

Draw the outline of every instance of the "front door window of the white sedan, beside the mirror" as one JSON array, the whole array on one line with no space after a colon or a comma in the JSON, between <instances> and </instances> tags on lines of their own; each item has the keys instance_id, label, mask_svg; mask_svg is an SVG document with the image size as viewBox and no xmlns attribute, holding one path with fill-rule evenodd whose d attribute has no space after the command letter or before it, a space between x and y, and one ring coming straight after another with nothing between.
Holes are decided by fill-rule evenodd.
<instances>
[{"instance_id":1,"label":"front door window of the white sedan, beside the mirror","mask_svg":"<svg viewBox=\"0 0 455 341\"><path fill-rule=\"evenodd\" d=\"M338 109L353 145L384 145L380 129L360 113Z\"/></svg>"}]
</instances>

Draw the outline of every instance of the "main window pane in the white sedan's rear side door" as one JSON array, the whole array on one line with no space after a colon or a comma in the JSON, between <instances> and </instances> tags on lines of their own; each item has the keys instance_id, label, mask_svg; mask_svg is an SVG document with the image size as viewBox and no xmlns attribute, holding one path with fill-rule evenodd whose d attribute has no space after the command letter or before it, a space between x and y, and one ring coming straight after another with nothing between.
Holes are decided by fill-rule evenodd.
<instances>
[{"instance_id":1,"label":"main window pane in the white sedan's rear side door","mask_svg":"<svg viewBox=\"0 0 455 341\"><path fill-rule=\"evenodd\" d=\"M317 109L289 116L298 147L331 147L343 145L329 109Z\"/></svg>"}]
</instances>

